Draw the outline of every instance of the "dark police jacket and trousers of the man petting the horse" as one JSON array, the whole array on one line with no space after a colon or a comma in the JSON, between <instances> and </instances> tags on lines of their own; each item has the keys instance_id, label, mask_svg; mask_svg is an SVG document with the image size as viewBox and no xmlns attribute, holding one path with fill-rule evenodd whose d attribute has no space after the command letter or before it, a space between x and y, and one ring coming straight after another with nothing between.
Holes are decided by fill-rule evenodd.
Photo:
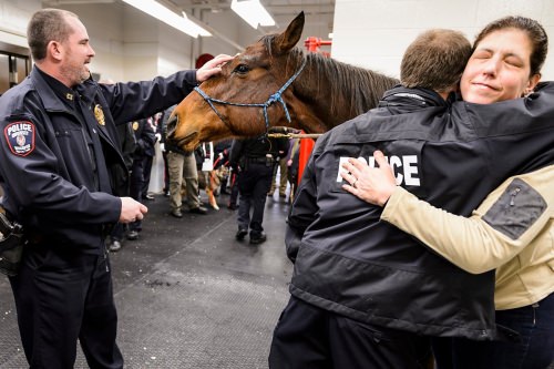
<instances>
[{"instance_id":1,"label":"dark police jacket and trousers of the man petting the horse","mask_svg":"<svg viewBox=\"0 0 554 369\"><path fill-rule=\"evenodd\" d=\"M195 84L186 71L69 89L35 66L0 99L2 205L29 238L10 283L31 366L72 367L78 338L91 367L123 366L104 245L127 191L115 124L153 115Z\"/></svg>"}]
</instances>

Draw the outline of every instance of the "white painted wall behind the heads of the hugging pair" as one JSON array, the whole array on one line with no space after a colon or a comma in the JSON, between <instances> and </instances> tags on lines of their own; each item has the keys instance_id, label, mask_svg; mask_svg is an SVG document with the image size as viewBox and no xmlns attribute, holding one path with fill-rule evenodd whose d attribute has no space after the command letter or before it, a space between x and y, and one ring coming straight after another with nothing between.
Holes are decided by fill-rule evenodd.
<instances>
[{"instance_id":1,"label":"white painted wall behind the heads of the hugging pair","mask_svg":"<svg viewBox=\"0 0 554 369\"><path fill-rule=\"evenodd\" d=\"M337 0L331 54L398 78L403 51L421 31L456 29L473 41L486 23L507 14L536 19L546 29L551 52L543 80L553 80L552 0Z\"/></svg>"}]
</instances>

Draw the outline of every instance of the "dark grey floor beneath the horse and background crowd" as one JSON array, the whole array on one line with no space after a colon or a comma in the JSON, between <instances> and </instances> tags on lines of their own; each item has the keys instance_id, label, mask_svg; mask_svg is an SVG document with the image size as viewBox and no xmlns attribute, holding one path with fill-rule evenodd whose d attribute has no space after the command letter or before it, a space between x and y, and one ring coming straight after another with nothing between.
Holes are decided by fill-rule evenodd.
<instances>
[{"instance_id":1,"label":"dark grey floor beneath the horse and background crowd","mask_svg":"<svg viewBox=\"0 0 554 369\"><path fill-rule=\"evenodd\" d=\"M276 192L277 193L277 192ZM125 368L267 368L273 329L288 300L288 205L268 197L268 240L235 240L236 214L218 199L207 215L167 214L147 202L138 240L111 254ZM0 276L0 369L28 368L8 278ZM88 368L81 352L75 368Z\"/></svg>"}]
</instances>

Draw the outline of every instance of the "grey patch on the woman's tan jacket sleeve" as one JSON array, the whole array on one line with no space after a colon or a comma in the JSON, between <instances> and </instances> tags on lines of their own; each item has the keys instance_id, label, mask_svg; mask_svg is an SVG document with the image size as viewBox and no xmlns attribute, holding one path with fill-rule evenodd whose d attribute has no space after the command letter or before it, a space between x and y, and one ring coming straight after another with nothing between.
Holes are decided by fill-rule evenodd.
<instances>
[{"instance_id":1,"label":"grey patch on the woman's tan jacket sleeve","mask_svg":"<svg viewBox=\"0 0 554 369\"><path fill-rule=\"evenodd\" d=\"M483 216L491 227L512 239L525 233L546 209L544 197L526 182L514 178Z\"/></svg>"}]
</instances>

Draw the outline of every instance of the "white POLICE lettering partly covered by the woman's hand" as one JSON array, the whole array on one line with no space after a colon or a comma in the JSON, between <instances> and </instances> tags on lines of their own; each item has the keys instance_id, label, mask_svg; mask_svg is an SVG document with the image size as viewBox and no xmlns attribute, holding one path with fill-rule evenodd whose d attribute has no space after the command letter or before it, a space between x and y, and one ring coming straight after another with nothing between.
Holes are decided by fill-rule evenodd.
<instances>
[{"instance_id":1,"label":"white POLICE lettering partly covered by the woman's hand","mask_svg":"<svg viewBox=\"0 0 554 369\"><path fill-rule=\"evenodd\" d=\"M420 186L419 178L419 163L418 155L390 155L386 156L387 162L394 171L394 177L397 178L398 185L403 186ZM362 161L365 164L368 164L370 167L376 167L376 161L373 156L358 157L359 161ZM337 173L337 182L341 183L342 177L340 176L341 172L346 172L342 168L342 163L348 162L348 156L340 156L339 158L339 167Z\"/></svg>"}]
</instances>

